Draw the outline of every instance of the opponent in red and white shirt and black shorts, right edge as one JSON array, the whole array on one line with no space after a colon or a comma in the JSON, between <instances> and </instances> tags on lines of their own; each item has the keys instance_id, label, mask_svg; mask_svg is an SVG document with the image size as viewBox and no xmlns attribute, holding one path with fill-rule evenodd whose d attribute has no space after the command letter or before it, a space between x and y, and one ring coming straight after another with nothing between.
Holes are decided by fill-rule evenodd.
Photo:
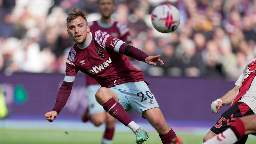
<instances>
[{"instance_id":1,"label":"opponent in red and white shirt and black shorts, right edge","mask_svg":"<svg viewBox=\"0 0 256 144\"><path fill-rule=\"evenodd\" d=\"M218 113L222 105L232 106L225 111L221 118L211 128L204 137L204 142L215 135L228 129L239 117L256 114L256 59L250 61L244 68L235 83L235 87L228 91L224 96L215 100L211 104L211 111ZM241 137L237 143L244 144L248 135Z\"/></svg>"}]
</instances>

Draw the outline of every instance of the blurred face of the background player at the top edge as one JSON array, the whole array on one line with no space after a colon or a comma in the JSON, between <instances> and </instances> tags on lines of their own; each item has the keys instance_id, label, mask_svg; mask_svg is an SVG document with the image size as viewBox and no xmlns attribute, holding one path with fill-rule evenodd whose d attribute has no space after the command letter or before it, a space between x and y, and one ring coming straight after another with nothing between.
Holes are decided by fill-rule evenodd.
<instances>
[{"instance_id":1,"label":"blurred face of the background player at the top edge","mask_svg":"<svg viewBox=\"0 0 256 144\"><path fill-rule=\"evenodd\" d=\"M102 17L108 18L115 9L113 0L99 0L98 9Z\"/></svg>"}]
</instances>

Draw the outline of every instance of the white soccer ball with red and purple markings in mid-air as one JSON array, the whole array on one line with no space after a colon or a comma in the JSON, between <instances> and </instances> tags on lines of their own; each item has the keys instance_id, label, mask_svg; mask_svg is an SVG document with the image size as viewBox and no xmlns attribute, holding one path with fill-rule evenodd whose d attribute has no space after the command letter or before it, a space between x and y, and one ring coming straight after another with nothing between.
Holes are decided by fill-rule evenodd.
<instances>
[{"instance_id":1,"label":"white soccer ball with red and purple markings in mid-air","mask_svg":"<svg viewBox=\"0 0 256 144\"><path fill-rule=\"evenodd\" d=\"M161 4L151 13L154 28L161 33L174 32L180 24L180 13L171 4Z\"/></svg>"}]
</instances>

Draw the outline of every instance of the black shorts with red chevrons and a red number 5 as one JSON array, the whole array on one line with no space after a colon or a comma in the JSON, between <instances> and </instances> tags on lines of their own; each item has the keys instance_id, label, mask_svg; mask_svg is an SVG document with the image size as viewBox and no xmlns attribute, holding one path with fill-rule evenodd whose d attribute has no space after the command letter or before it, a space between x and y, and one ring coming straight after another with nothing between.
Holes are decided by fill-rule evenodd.
<instances>
[{"instance_id":1,"label":"black shorts with red chevrons and a red number 5","mask_svg":"<svg viewBox=\"0 0 256 144\"><path fill-rule=\"evenodd\" d=\"M237 102L221 115L220 119L211 128L211 131L219 134L228 129L237 118L251 114L254 114L254 112L247 104Z\"/></svg>"}]
</instances>

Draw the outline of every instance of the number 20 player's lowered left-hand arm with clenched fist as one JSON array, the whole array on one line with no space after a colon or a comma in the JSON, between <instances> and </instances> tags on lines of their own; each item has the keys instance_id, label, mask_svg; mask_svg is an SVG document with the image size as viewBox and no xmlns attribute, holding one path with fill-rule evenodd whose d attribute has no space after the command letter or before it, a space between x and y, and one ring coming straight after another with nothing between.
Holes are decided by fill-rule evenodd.
<instances>
[{"instance_id":1,"label":"number 20 player's lowered left-hand arm with clenched fist","mask_svg":"<svg viewBox=\"0 0 256 144\"><path fill-rule=\"evenodd\" d=\"M53 122L53 120L57 117L59 112L62 110L62 108L66 105L68 101L68 97L71 93L73 82L75 80L75 75L78 72L78 70L76 70L74 65L72 64L72 62L71 64L67 63L66 75L58 91L53 110L45 114L45 119L49 122Z\"/></svg>"}]
</instances>

